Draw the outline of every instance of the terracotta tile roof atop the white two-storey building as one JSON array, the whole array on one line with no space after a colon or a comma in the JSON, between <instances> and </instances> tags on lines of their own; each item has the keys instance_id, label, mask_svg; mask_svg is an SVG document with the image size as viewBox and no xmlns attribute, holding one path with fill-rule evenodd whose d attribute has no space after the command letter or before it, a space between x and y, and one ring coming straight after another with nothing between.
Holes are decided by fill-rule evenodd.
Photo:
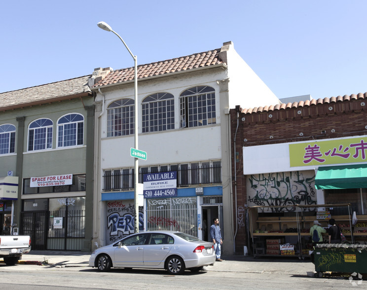
<instances>
[{"instance_id":1,"label":"terracotta tile roof atop the white two-storey building","mask_svg":"<svg viewBox=\"0 0 367 290\"><path fill-rule=\"evenodd\" d=\"M224 64L224 61L220 59L219 53L220 48L151 64L139 65L138 79L171 72L181 72L201 67ZM102 81L95 84L93 87L110 85L133 79L134 68L126 68L110 72L110 74L108 74Z\"/></svg>"}]
</instances>

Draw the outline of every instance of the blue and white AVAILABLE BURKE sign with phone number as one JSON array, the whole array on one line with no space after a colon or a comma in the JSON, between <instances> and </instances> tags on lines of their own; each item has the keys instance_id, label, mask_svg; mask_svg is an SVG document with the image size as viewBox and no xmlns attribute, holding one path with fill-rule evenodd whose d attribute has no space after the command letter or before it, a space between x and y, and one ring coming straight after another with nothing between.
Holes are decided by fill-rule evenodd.
<instances>
[{"instance_id":1,"label":"blue and white AVAILABLE BURKE sign with phone number","mask_svg":"<svg viewBox=\"0 0 367 290\"><path fill-rule=\"evenodd\" d=\"M177 196L177 172L147 173L143 176L145 198Z\"/></svg>"}]
</instances>

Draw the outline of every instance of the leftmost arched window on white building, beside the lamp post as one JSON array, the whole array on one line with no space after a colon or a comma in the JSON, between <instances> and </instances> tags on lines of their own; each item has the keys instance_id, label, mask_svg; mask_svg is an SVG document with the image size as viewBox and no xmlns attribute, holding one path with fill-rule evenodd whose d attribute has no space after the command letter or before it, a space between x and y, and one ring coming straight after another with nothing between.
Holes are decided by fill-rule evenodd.
<instances>
[{"instance_id":1,"label":"leftmost arched window on white building, beside the lamp post","mask_svg":"<svg viewBox=\"0 0 367 290\"><path fill-rule=\"evenodd\" d=\"M134 100L121 99L107 108L107 137L134 134Z\"/></svg>"}]
</instances>

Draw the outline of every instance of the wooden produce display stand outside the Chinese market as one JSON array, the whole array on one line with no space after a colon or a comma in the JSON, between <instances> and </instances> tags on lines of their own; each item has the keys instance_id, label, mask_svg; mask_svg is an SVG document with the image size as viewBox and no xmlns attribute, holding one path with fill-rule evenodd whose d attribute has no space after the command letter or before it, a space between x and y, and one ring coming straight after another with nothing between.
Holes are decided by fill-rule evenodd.
<instances>
[{"instance_id":1,"label":"wooden produce display stand outside the Chinese market","mask_svg":"<svg viewBox=\"0 0 367 290\"><path fill-rule=\"evenodd\" d=\"M313 206L300 206L294 205L294 211L288 212L289 217L259 217L259 209L272 208L275 212L279 211L279 208L284 207L249 207L249 221L250 221L250 235L253 242L253 254L257 255L271 255L281 256L279 245L290 244L294 246L294 250L288 251L287 256L298 256L300 258L308 257L309 250L312 250L310 240L310 228L313 226L313 221L317 219L316 213L318 209L329 209L337 207L348 207L349 215L346 216L333 216L336 224L342 224L341 229L343 234L347 238L347 241L354 243L355 237L367 237L367 216L357 216L359 227L352 226L352 213L350 211L350 204L328 204L328 205L313 205ZM315 215L308 216L305 213L309 210L315 209ZM327 219L321 219L327 218ZM318 216L319 222L322 227L327 228L329 225L330 215L325 213ZM362 226L363 225L363 226ZM364 232L366 230L366 232ZM329 243L328 234L323 234L325 243ZM278 246L270 243L272 240L278 241ZM363 239L360 239L362 242ZM292 247L291 247L292 248ZM283 254L282 256L285 256Z\"/></svg>"}]
</instances>

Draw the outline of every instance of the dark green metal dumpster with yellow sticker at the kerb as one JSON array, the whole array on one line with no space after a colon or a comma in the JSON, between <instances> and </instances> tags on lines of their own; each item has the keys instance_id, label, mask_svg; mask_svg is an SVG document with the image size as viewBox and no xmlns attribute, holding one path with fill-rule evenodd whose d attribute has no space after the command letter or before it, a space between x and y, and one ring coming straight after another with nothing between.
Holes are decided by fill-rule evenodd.
<instances>
[{"instance_id":1,"label":"dark green metal dumpster with yellow sticker at the kerb","mask_svg":"<svg viewBox=\"0 0 367 290\"><path fill-rule=\"evenodd\" d=\"M367 273L367 245L320 244L311 254L315 277L323 272Z\"/></svg>"}]
</instances>

